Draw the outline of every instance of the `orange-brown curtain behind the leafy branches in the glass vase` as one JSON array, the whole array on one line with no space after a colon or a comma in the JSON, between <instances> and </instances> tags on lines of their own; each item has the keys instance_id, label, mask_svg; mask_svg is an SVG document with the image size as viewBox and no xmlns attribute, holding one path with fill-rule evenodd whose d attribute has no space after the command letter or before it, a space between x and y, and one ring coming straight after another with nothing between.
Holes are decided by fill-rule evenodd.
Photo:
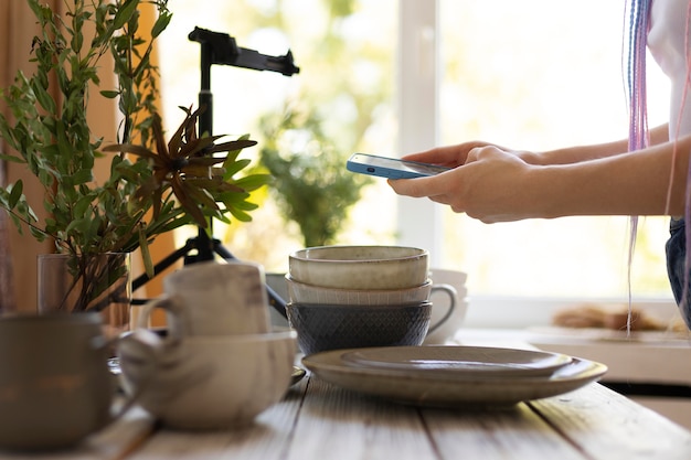
<instances>
[{"instance_id":1,"label":"orange-brown curtain behind the leafy branches in the glass vase","mask_svg":"<svg viewBox=\"0 0 691 460\"><path fill-rule=\"evenodd\" d=\"M44 0L53 8L61 8L63 0ZM141 10L141 30L147 30L145 21L153 21L156 10L145 4ZM18 69L31 72L29 53L33 36L39 32L31 9L24 0L0 1L0 86L7 87L14 78ZM150 29L150 28L149 28ZM111 87L114 75L109 66L104 65L99 73L102 87ZM55 97L55 95L53 95ZM7 111L0 103L0 109ZM8 115L6 113L6 115ZM117 129L116 101L105 98L89 100L89 126L96 136L115 142ZM7 149L1 143L0 149ZM95 168L96 176L108 174L109 161L104 159ZM24 181L24 193L30 203L42 201L42 189L38 180L21 164L0 162L0 184ZM34 206L40 218L45 216L41 206ZM14 225L8 222L7 213L0 212L0 312L3 310L35 311L36 309L36 257L39 254L52 253L51 242L38 243L28 232L20 235ZM152 247L155 261L173 250L172 235L162 235ZM140 257L132 257L135 276L141 272ZM161 291L160 279L149 281L145 288L136 292L138 297L155 297Z\"/></svg>"}]
</instances>

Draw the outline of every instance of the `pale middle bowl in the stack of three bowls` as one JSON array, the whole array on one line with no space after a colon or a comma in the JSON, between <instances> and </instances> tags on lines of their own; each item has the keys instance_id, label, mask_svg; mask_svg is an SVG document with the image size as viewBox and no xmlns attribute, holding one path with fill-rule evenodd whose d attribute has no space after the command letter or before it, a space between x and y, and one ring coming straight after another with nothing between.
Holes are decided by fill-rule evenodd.
<instances>
[{"instance_id":1,"label":"pale middle bowl in the stack of three bowls","mask_svg":"<svg viewBox=\"0 0 691 460\"><path fill-rule=\"evenodd\" d=\"M429 300L432 281L401 289L337 289L307 285L286 275L288 300L295 303L396 306Z\"/></svg>"}]
</instances>

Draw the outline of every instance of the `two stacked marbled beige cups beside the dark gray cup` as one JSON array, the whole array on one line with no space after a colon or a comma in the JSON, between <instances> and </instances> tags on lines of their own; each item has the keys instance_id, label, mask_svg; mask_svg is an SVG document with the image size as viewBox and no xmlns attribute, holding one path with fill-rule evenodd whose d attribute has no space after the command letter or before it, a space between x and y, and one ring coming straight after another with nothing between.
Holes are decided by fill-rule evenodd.
<instances>
[{"instance_id":1,"label":"two stacked marbled beige cups beside the dark gray cup","mask_svg":"<svg viewBox=\"0 0 691 460\"><path fill-rule=\"evenodd\" d=\"M143 307L139 329L156 309L167 335L147 368L150 343L119 347L126 387L164 425L181 429L243 427L288 389L297 353L295 331L272 331L264 271L251 263L198 263L163 280L164 296Z\"/></svg>"}]
</instances>

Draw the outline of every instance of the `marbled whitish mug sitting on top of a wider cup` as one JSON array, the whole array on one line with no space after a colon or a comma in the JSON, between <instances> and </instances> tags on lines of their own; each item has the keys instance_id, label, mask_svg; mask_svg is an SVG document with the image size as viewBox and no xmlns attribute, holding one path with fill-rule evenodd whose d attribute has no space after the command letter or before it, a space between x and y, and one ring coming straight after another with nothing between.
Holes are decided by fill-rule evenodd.
<instances>
[{"instance_id":1,"label":"marbled whitish mug sitting on top of a wider cup","mask_svg":"<svg viewBox=\"0 0 691 460\"><path fill-rule=\"evenodd\" d=\"M164 296L143 306L138 327L167 311L174 335L258 334L270 331L264 269L245 261L198 263L163 279ZM179 329L179 330L178 330Z\"/></svg>"}]
</instances>

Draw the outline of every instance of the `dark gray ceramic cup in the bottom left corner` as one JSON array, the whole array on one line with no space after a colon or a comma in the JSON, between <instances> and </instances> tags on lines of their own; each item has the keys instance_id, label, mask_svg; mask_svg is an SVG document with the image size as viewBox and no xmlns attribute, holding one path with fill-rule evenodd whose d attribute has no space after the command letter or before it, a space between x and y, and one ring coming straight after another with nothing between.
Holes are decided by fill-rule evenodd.
<instances>
[{"instance_id":1,"label":"dark gray ceramic cup in the bottom left corner","mask_svg":"<svg viewBox=\"0 0 691 460\"><path fill-rule=\"evenodd\" d=\"M68 448L121 414L102 327L99 313L0 318L0 449Z\"/></svg>"}]
</instances>

